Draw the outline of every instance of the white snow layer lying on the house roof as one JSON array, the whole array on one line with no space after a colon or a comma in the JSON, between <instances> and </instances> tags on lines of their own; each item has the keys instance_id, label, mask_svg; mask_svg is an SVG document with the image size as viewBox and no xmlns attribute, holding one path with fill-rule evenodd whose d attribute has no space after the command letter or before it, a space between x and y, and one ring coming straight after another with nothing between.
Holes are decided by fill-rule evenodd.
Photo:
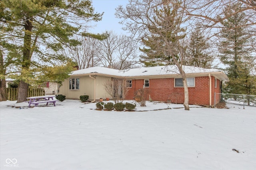
<instances>
[{"instance_id":1,"label":"white snow layer lying on the house roof","mask_svg":"<svg viewBox=\"0 0 256 170\"><path fill-rule=\"evenodd\" d=\"M186 74L222 72L221 70L217 70L217 69L200 68L200 67L194 67L194 66L183 66L183 67ZM132 68L130 70L116 70L113 68L96 66L96 67L84 68L82 70L73 71L71 75L90 74L90 73L132 77L132 76L179 74L179 71L176 65L141 67L141 68Z\"/></svg>"}]
</instances>

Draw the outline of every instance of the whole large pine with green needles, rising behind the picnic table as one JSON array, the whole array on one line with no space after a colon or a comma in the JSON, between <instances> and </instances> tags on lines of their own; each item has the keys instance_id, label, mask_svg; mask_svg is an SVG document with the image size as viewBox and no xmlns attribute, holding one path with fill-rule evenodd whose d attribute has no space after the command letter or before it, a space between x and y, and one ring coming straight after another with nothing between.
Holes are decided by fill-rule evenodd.
<instances>
[{"instance_id":1,"label":"whole large pine with green needles, rising behind the picnic table","mask_svg":"<svg viewBox=\"0 0 256 170\"><path fill-rule=\"evenodd\" d=\"M101 20L102 14L94 14L91 3L90 0L0 1L0 29L4 30L1 31L3 37L15 49L22 51L20 62L15 63L20 72L16 77L20 80L17 102L26 100L28 82L39 80L46 72L58 73L60 68L56 68L56 61L63 58L56 52L64 45L71 47L79 44L72 37L85 31L86 22ZM3 46L3 39L0 41ZM8 57L12 57L10 48L7 49ZM70 62L66 63L64 69L60 69L63 72L59 72L58 77L53 76L57 81L66 78L68 72L72 71Z\"/></svg>"}]
</instances>

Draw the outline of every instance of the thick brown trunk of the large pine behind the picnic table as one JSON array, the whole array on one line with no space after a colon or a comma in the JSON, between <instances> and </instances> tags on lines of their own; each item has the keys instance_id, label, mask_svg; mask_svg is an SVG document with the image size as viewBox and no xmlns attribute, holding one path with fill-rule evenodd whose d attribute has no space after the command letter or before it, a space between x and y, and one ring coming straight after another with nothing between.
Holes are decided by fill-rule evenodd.
<instances>
[{"instance_id":1,"label":"thick brown trunk of the large pine behind the picnic table","mask_svg":"<svg viewBox=\"0 0 256 170\"><path fill-rule=\"evenodd\" d=\"M27 72L31 64L31 33L32 33L32 17L27 17L25 21L25 34L24 34L24 47L23 47L23 58L22 58L22 70L20 83L18 85L18 100L17 103L26 101L28 95L28 84L24 82L27 75L24 75L23 72Z\"/></svg>"}]
</instances>

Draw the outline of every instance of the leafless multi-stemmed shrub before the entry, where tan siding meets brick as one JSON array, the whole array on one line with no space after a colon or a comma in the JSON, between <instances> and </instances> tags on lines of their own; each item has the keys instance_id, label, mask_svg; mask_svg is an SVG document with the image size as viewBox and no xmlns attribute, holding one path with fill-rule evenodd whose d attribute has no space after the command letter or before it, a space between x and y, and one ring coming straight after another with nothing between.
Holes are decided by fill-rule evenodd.
<instances>
[{"instance_id":1,"label":"leafless multi-stemmed shrub before the entry, where tan siding meets brick","mask_svg":"<svg viewBox=\"0 0 256 170\"><path fill-rule=\"evenodd\" d=\"M126 88L126 79L121 78L112 78L112 80L107 80L104 83L104 89L115 103L123 102L129 91L129 88Z\"/></svg>"}]
</instances>

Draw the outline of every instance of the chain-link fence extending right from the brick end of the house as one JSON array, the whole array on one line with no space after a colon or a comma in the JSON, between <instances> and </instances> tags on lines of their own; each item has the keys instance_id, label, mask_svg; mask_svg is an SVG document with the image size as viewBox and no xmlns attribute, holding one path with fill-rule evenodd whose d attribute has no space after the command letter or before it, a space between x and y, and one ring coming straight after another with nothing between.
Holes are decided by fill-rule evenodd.
<instances>
[{"instance_id":1,"label":"chain-link fence extending right from the brick end of the house","mask_svg":"<svg viewBox=\"0 0 256 170\"><path fill-rule=\"evenodd\" d=\"M246 94L214 94L214 107L256 109L256 96Z\"/></svg>"}]
</instances>

